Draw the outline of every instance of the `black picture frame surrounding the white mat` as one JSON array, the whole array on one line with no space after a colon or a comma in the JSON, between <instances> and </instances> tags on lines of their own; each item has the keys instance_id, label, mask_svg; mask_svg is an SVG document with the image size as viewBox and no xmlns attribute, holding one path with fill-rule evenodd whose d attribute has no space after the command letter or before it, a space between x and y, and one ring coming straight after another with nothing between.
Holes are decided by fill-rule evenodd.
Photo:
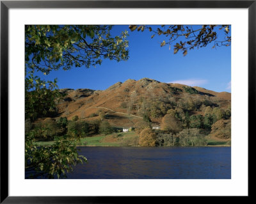
<instances>
[{"instance_id":1,"label":"black picture frame surrounding the white mat","mask_svg":"<svg viewBox=\"0 0 256 204\"><path fill-rule=\"evenodd\" d=\"M1 1L1 203L123 203L145 198L123 196L22 196L8 194L8 10L10 8L248 8L248 139L255 136L256 92L256 0L253 1ZM250 143L248 143L250 144ZM251 143L252 144L252 143ZM251 149L248 145L248 150ZM249 151L250 152L250 151ZM248 152L248 156L249 156ZM248 157L249 158L249 157ZM249 159L250 160L250 159ZM249 165L249 162L248 162ZM248 166L250 167L250 166ZM248 180L249 182L249 180ZM250 197L244 196L245 198ZM212 199L216 199L212 198ZM172 198L173 199L173 198ZM196 196L186 196L189 201ZM221 198L223 199L223 198ZM150 198L159 202L159 198Z\"/></svg>"}]
</instances>

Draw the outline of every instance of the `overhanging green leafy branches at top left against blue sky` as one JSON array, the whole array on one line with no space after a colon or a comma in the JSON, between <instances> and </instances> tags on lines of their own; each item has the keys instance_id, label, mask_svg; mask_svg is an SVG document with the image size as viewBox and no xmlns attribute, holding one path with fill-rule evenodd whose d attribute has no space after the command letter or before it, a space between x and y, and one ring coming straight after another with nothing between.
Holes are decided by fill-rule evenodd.
<instances>
[{"instance_id":1,"label":"overhanging green leafy branches at top left against blue sky","mask_svg":"<svg viewBox=\"0 0 256 204\"><path fill-rule=\"evenodd\" d=\"M51 70L100 65L102 59L128 59L127 31L111 36L113 26L27 25L26 68L49 74Z\"/></svg>"}]
</instances>

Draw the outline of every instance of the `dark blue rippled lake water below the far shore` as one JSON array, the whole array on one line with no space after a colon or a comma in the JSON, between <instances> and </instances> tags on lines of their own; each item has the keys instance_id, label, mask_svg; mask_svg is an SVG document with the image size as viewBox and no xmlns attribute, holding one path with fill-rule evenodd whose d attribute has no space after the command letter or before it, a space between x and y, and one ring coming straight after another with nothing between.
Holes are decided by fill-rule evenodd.
<instances>
[{"instance_id":1,"label":"dark blue rippled lake water below the far shore","mask_svg":"<svg viewBox=\"0 0 256 204\"><path fill-rule=\"evenodd\" d=\"M69 179L230 179L230 147L79 147Z\"/></svg>"}]
</instances>

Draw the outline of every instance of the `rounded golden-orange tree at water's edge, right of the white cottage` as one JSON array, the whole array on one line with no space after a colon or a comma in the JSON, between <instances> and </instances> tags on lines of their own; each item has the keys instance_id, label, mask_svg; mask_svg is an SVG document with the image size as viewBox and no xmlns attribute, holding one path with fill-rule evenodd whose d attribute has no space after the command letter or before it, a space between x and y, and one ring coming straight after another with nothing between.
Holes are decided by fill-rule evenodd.
<instances>
[{"instance_id":1,"label":"rounded golden-orange tree at water's edge, right of the white cottage","mask_svg":"<svg viewBox=\"0 0 256 204\"><path fill-rule=\"evenodd\" d=\"M156 133L149 127L141 131L139 137L140 146L156 146Z\"/></svg>"}]
</instances>

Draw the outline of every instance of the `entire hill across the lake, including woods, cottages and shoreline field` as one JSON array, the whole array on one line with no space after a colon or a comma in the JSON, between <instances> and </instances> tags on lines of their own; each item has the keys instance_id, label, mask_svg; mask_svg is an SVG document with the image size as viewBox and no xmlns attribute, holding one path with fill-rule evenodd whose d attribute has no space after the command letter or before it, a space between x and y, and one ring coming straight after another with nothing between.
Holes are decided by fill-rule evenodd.
<instances>
[{"instance_id":1,"label":"entire hill across the lake, including woods, cottages and shoreline field","mask_svg":"<svg viewBox=\"0 0 256 204\"><path fill-rule=\"evenodd\" d=\"M97 146L204 146L231 141L228 92L148 78L116 82L106 90L57 91L62 97L45 118L26 120L27 134L43 143L56 136L83 138L81 144Z\"/></svg>"}]
</instances>

